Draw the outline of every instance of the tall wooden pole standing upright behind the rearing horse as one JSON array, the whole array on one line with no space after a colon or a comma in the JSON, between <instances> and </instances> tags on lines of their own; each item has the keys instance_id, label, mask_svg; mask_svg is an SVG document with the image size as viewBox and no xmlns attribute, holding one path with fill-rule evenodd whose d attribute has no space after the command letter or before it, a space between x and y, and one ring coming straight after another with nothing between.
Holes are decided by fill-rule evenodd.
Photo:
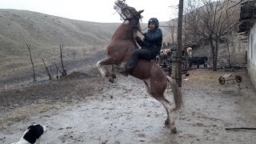
<instances>
[{"instance_id":1,"label":"tall wooden pole standing upright behind the rearing horse","mask_svg":"<svg viewBox=\"0 0 256 144\"><path fill-rule=\"evenodd\" d=\"M178 4L178 35L177 35L177 77L176 83L182 87L182 16L183 16L183 0L179 0Z\"/></svg>"}]
</instances>

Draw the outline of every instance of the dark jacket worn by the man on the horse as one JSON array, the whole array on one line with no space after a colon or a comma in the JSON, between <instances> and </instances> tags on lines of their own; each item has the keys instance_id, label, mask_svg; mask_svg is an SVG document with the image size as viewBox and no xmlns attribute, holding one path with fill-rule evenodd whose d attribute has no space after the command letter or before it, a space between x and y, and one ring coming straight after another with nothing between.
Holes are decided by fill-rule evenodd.
<instances>
[{"instance_id":1,"label":"dark jacket worn by the man on the horse","mask_svg":"<svg viewBox=\"0 0 256 144\"><path fill-rule=\"evenodd\" d=\"M138 45L142 46L142 49L152 50L155 54L159 54L162 46L162 30L156 28L154 30L148 30L144 35L144 40L138 41Z\"/></svg>"}]
</instances>

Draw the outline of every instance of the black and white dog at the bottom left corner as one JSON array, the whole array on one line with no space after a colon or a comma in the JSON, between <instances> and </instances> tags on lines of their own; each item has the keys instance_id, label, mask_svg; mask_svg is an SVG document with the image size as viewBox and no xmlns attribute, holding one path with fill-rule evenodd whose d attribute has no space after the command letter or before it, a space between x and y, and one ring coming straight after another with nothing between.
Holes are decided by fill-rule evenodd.
<instances>
[{"instance_id":1,"label":"black and white dog at the bottom left corner","mask_svg":"<svg viewBox=\"0 0 256 144\"><path fill-rule=\"evenodd\" d=\"M38 124L31 125L26 129L19 142L14 142L11 144L39 144L41 136L46 132L46 130L46 126L41 126Z\"/></svg>"}]
</instances>

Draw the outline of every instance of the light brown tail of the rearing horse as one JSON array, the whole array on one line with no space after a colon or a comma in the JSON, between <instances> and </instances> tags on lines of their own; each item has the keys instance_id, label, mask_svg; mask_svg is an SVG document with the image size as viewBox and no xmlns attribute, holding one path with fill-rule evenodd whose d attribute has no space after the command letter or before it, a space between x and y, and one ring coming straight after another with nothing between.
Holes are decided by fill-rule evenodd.
<instances>
[{"instance_id":1,"label":"light brown tail of the rearing horse","mask_svg":"<svg viewBox=\"0 0 256 144\"><path fill-rule=\"evenodd\" d=\"M174 111L176 111L176 110L179 110L183 105L182 92L181 90L179 90L178 85L172 80L172 78L167 76L167 79L168 79L168 82L170 82L170 87L174 94L174 103L176 105L176 107L174 108Z\"/></svg>"}]
</instances>

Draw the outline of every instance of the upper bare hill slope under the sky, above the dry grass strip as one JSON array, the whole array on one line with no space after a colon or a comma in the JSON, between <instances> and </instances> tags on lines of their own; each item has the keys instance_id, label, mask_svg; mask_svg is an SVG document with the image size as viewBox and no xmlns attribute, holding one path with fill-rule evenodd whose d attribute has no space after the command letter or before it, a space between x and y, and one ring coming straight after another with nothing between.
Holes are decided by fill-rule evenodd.
<instances>
[{"instance_id":1,"label":"upper bare hill slope under the sky, above the dry grass strip","mask_svg":"<svg viewBox=\"0 0 256 144\"><path fill-rule=\"evenodd\" d=\"M82 22L26 10L0 10L0 52L3 57L20 54L18 49L26 43L37 48L58 46L59 42L66 46L102 45L110 41L117 26L118 23Z\"/></svg>"}]
</instances>

